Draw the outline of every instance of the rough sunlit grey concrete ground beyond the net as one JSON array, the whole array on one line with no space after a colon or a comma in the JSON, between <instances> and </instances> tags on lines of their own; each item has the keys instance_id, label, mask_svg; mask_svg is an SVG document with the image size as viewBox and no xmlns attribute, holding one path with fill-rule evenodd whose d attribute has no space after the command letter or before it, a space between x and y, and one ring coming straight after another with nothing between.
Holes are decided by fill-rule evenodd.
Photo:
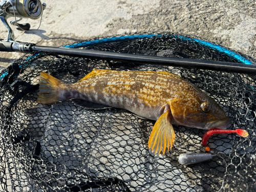
<instances>
[{"instance_id":1,"label":"rough sunlit grey concrete ground beyond the net","mask_svg":"<svg viewBox=\"0 0 256 192\"><path fill-rule=\"evenodd\" d=\"M256 3L253 0L98 0L52 1L39 19L23 19L30 32L17 31L15 40L42 46L62 46L100 36L125 33L176 32L214 41L256 57ZM11 20L11 19L9 19ZM0 23L0 38L7 29ZM22 53L0 53L0 66L7 67Z\"/></svg>"}]
</instances>

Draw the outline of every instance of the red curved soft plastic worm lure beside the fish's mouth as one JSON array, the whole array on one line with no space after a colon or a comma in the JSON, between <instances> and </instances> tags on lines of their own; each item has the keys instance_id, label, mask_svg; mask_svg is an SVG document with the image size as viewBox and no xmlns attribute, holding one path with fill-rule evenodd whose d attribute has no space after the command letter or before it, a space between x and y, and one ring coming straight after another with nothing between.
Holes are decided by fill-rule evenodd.
<instances>
[{"instance_id":1,"label":"red curved soft plastic worm lure beside the fish's mouth","mask_svg":"<svg viewBox=\"0 0 256 192\"><path fill-rule=\"evenodd\" d=\"M207 140L209 139L210 136L212 136L214 134L225 134L225 133L237 133L241 137L247 137L249 135L247 131L241 130L241 129L237 129L237 130L221 130L221 129L214 128L214 129L208 130L204 134L204 136L202 138L202 145L206 146Z\"/></svg>"}]
</instances>

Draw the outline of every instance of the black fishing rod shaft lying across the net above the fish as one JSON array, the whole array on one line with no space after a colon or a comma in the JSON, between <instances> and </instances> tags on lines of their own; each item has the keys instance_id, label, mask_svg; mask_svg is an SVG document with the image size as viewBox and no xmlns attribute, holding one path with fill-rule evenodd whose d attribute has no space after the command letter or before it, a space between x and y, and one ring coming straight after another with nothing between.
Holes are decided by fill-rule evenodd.
<instances>
[{"instance_id":1,"label":"black fishing rod shaft lying across the net above the fish","mask_svg":"<svg viewBox=\"0 0 256 192\"><path fill-rule=\"evenodd\" d=\"M221 62L209 60L197 60L188 58L173 58L161 56L134 55L128 53L105 52L96 50L83 50L63 47L36 46L26 42L3 42L0 41L0 51L16 52L47 52L60 55L69 55L85 58L96 58L104 60L125 61L140 64L164 65L185 68L197 68L204 70L215 70L245 74L256 74L256 65L245 65L236 62Z\"/></svg>"}]
</instances>

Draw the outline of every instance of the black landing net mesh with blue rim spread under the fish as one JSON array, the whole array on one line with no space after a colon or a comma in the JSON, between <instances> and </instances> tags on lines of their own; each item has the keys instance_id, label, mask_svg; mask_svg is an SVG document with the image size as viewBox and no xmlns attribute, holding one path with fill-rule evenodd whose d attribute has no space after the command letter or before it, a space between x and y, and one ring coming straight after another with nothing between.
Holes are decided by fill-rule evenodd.
<instances>
[{"instance_id":1,"label":"black landing net mesh with blue rim spread under the fish","mask_svg":"<svg viewBox=\"0 0 256 192\"><path fill-rule=\"evenodd\" d=\"M130 37L137 37L132 36ZM238 62L193 38L165 33L114 41L91 39L85 49ZM182 36L183 37L183 36ZM86 43L87 42L87 43ZM94 42L89 44L88 42ZM217 46L216 44L211 44ZM218 46L217 46L218 47ZM218 47L219 48L219 47ZM241 55L241 54L239 54ZM255 60L242 55L254 65ZM229 129L208 140L217 157L181 165L181 153L204 153L205 130L174 125L172 151L147 147L154 121L120 109L87 110L71 101L38 104L40 72L76 82L97 69L168 71L196 84L231 118ZM2 71L0 81L1 191L255 191L255 75L69 57L28 54Z\"/></svg>"}]
</instances>

